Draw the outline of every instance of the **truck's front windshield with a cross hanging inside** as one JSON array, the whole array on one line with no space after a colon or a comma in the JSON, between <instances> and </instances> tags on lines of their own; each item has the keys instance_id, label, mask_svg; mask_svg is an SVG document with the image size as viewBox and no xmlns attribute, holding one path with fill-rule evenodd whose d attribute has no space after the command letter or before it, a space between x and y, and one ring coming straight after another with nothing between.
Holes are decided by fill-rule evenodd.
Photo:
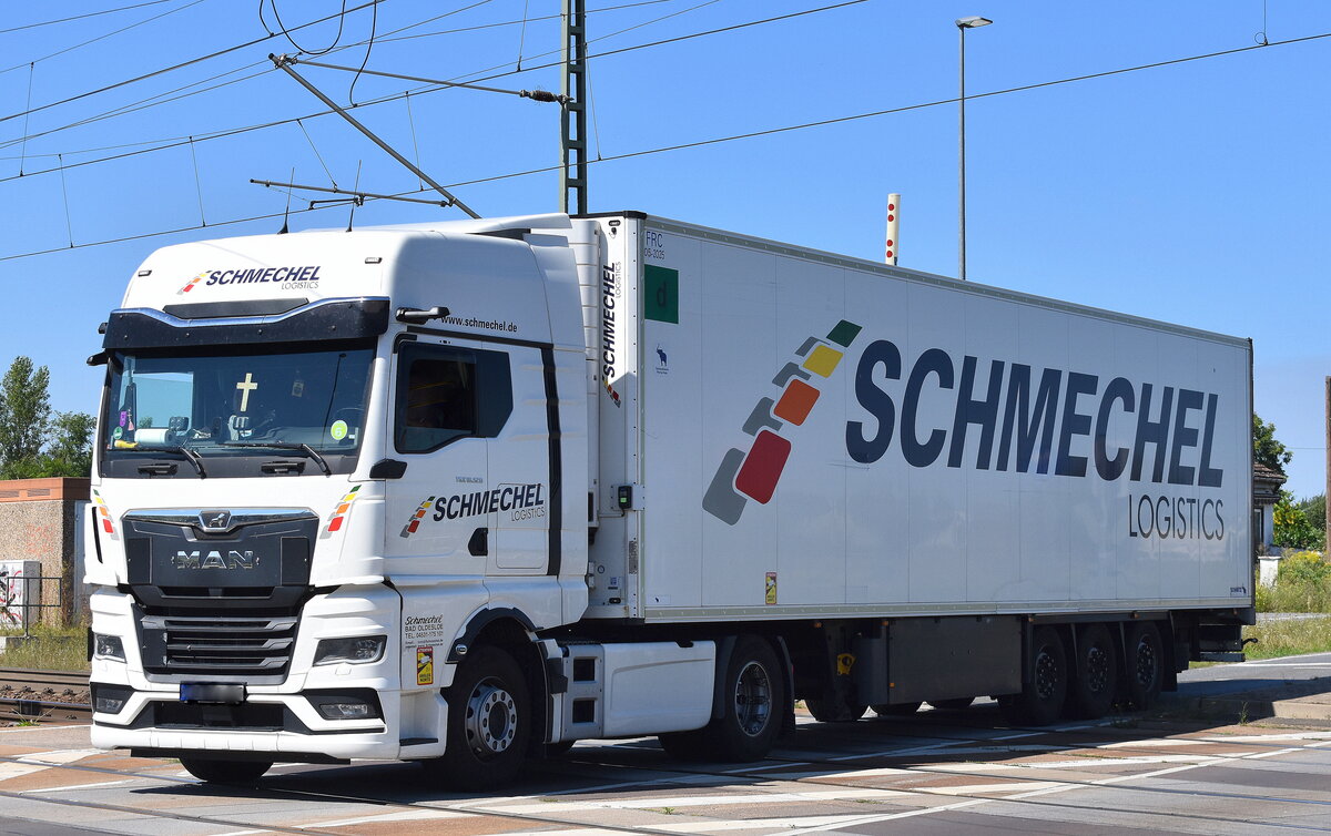
<instances>
[{"instance_id":1,"label":"truck's front windshield with a cross hanging inside","mask_svg":"<svg viewBox=\"0 0 1331 836\"><path fill-rule=\"evenodd\" d=\"M113 471L108 475L322 474L330 465L331 473L354 467L373 347L212 351L116 354L100 433L102 459ZM140 466L153 457L188 463ZM270 466L238 461L254 457ZM274 469L274 458L301 465Z\"/></svg>"}]
</instances>

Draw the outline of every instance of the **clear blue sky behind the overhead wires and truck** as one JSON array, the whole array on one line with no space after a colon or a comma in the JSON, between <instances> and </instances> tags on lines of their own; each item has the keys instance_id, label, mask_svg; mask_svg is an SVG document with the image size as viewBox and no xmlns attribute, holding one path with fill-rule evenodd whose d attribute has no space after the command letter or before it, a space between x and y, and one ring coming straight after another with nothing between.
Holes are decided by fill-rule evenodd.
<instances>
[{"instance_id":1,"label":"clear blue sky behind the overhead wires and truck","mask_svg":"<svg viewBox=\"0 0 1331 836\"><path fill-rule=\"evenodd\" d=\"M0 32L0 71L15 68L0 73L0 118L9 117L0 121L0 286L11 289L9 304L0 306L0 363L28 354L49 366L52 402L63 410L95 409L100 370L83 359L100 346L97 323L152 249L281 226L281 218L216 226L284 210L285 193L250 185L250 177L286 180L294 168L297 182L329 185L331 174L349 188L359 165L365 190L418 188L334 116L306 118L303 130L285 124L204 138L323 109L265 64L269 52L297 51L282 36L83 96L265 37L253 1L165 0L15 29L136 3L145 0L12 4L0 23L11 29ZM590 53L831 4L588 0ZM277 1L287 27L339 8L339 0ZM270 11L266 21L277 31ZM548 19L558 12L558 0L382 0L367 67L430 79L506 73L483 84L558 91L556 69L532 69L558 57L551 53L559 47L558 20ZM442 15L449 16L422 24ZM596 57L591 157L603 161L591 166L591 209L642 209L880 258L885 196L900 192L901 264L956 274L954 103L611 157L952 100L953 20L966 15L996 21L966 36L972 96L1254 47L1264 25L1271 45L1259 49L968 103L968 273L990 285L1252 337L1256 410L1295 453L1288 487L1319 493L1323 378L1331 374L1324 323L1331 290L1318 232L1331 220L1324 84L1331 37L1279 41L1331 33L1331 4L866 0ZM125 27L132 28L109 35ZM363 44L370 28L369 8L346 15L339 49L317 60L358 67L365 47L354 44ZM450 29L462 31L443 33ZM293 33L306 49L335 36L335 21ZM93 39L101 40L77 47ZM526 72L515 73L519 55ZM350 73L298 71L347 101ZM145 101L229 81L176 101ZM361 76L354 97L421 87ZM40 109L24 116L29 103ZM120 108L129 112L79 125ZM410 110L397 99L355 113L445 184L558 162L559 113L548 104L451 89L411 96ZM173 142L182 144L76 166ZM61 162L69 166L64 177ZM554 173L538 173L455 192L482 214L520 214L556 209L556 184ZM305 206L299 197L293 202ZM194 226L201 217L214 226L61 249L71 233L85 245ZM439 217L461 214L386 201L355 213L366 225ZM346 222L346 206L291 217L297 229ZM15 257L48 249L61 252Z\"/></svg>"}]
</instances>

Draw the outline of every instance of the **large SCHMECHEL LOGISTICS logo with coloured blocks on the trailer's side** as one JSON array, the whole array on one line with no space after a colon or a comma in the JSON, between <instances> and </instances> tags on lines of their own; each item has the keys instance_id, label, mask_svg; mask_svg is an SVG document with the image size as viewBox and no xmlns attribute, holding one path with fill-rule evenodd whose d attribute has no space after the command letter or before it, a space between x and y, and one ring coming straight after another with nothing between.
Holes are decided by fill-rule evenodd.
<instances>
[{"instance_id":1,"label":"large SCHMECHEL LOGISTICS logo with coloured blocks on the trailer's side","mask_svg":"<svg viewBox=\"0 0 1331 836\"><path fill-rule=\"evenodd\" d=\"M753 437L749 450L731 449L721 458L704 510L733 526L748 499L771 502L791 455L791 442L780 435L783 422L804 423L820 395L809 385L811 373L831 377L844 353L829 343L849 349L860 330L843 319L827 339L811 337L800 346L796 354L804 361L788 362L772 381L783 387L780 399L760 398L744 422L744 433ZM969 354L957 358L938 347L925 349L912 363L902 359L889 339L876 339L860 354L855 399L864 414L845 423L852 461L873 465L897 447L914 469L1158 485L1127 494L1129 538L1225 539L1225 501L1214 493L1225 482L1213 455L1219 394ZM925 418L921 401L944 391L952 393L944 395L954 403L952 414ZM1125 446L1110 446L1110 426L1127 430Z\"/></svg>"}]
</instances>

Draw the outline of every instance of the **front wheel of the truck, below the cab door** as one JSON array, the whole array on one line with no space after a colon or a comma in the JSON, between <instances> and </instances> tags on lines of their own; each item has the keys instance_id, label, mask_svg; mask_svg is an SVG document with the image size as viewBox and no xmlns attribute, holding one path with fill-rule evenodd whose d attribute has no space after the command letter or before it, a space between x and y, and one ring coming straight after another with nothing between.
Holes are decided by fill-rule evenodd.
<instances>
[{"instance_id":1,"label":"front wheel of the truck, below the cab door","mask_svg":"<svg viewBox=\"0 0 1331 836\"><path fill-rule=\"evenodd\" d=\"M447 700L447 743L427 768L459 789L490 789L512 780L532 723L518 663L496 647L471 651L458 666Z\"/></svg>"}]
</instances>

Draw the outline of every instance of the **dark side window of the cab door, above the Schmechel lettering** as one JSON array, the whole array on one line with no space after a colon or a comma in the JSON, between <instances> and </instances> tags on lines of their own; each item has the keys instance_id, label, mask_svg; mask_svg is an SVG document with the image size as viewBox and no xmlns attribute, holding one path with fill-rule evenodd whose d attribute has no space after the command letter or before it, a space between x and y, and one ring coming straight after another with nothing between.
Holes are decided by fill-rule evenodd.
<instances>
[{"instance_id":1,"label":"dark side window of the cab door, above the Schmechel lettering","mask_svg":"<svg viewBox=\"0 0 1331 836\"><path fill-rule=\"evenodd\" d=\"M492 438L512 413L508 355L502 351L409 343L398 362L398 453L430 453L459 438Z\"/></svg>"}]
</instances>

